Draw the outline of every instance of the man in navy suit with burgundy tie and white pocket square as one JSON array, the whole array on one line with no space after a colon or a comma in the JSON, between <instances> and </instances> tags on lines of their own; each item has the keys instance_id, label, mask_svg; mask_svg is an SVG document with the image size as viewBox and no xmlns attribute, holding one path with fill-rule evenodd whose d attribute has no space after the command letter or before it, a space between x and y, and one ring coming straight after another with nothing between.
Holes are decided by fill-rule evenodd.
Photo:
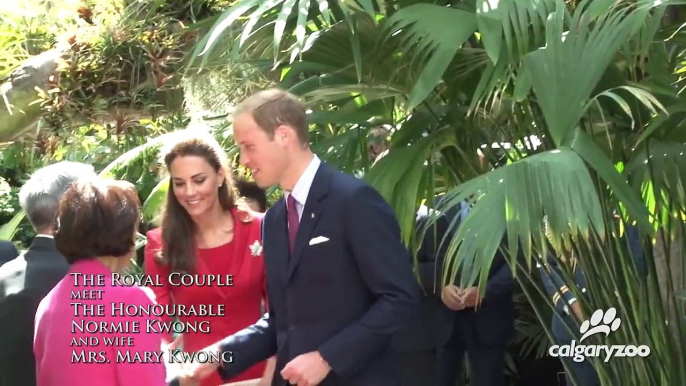
<instances>
[{"instance_id":1,"label":"man in navy suit with burgundy tie and white pocket square","mask_svg":"<svg viewBox=\"0 0 686 386\"><path fill-rule=\"evenodd\" d=\"M276 354L272 385L399 385L390 339L419 294L393 210L311 152L305 108L289 93L246 99L234 139L255 181L285 197L263 220L269 314L208 348L233 352L223 377Z\"/></svg>"}]
</instances>

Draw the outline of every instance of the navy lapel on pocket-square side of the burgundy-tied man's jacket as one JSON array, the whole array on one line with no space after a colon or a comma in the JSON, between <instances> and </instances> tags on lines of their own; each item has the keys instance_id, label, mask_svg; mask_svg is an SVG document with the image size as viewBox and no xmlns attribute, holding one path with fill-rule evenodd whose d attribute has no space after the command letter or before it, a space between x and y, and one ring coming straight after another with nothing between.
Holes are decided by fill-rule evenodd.
<instances>
[{"instance_id":1,"label":"navy lapel on pocket-square side of the burgundy-tied man's jacket","mask_svg":"<svg viewBox=\"0 0 686 386\"><path fill-rule=\"evenodd\" d=\"M312 186L310 186L310 191L307 195L307 202L303 208L303 214L300 218L300 225L298 226L298 234L295 236L295 248L293 248L293 254L288 261L288 270L286 273L287 283L293 276L293 272L298 267L300 260L302 259L303 250L307 246L310 236L314 231L317 222L322 217L322 211L324 209L324 197L326 197L329 192L329 179L331 178L331 170L324 162L322 162L317 169L317 174L312 180ZM286 242L288 245L288 242Z\"/></svg>"}]
</instances>

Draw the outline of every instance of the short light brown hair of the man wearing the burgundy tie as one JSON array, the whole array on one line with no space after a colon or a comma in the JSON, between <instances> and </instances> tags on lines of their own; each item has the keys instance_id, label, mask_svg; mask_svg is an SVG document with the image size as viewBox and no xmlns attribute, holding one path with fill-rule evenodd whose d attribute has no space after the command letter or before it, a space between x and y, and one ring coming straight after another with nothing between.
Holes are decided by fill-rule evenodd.
<instances>
[{"instance_id":1,"label":"short light brown hair of the man wearing the burgundy tie","mask_svg":"<svg viewBox=\"0 0 686 386\"><path fill-rule=\"evenodd\" d=\"M250 113L269 139L274 139L274 131L279 125L289 125L295 129L300 144L308 146L307 113L295 95L276 88L257 92L241 102L233 115L243 113Z\"/></svg>"}]
</instances>

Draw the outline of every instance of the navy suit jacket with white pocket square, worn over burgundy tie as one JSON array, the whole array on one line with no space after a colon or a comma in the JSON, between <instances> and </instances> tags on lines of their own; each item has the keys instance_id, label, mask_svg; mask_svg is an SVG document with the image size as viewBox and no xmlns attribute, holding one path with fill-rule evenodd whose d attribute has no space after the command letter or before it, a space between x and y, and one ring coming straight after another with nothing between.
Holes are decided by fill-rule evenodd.
<instances>
[{"instance_id":1,"label":"navy suit jacket with white pocket square, worn over burgundy tie","mask_svg":"<svg viewBox=\"0 0 686 386\"><path fill-rule=\"evenodd\" d=\"M263 220L269 314L221 342L224 379L277 355L273 385L298 355L331 366L321 385L399 385L390 339L419 305L391 207L364 181L319 166L289 256L283 198ZM328 240L310 245L315 237Z\"/></svg>"}]
</instances>

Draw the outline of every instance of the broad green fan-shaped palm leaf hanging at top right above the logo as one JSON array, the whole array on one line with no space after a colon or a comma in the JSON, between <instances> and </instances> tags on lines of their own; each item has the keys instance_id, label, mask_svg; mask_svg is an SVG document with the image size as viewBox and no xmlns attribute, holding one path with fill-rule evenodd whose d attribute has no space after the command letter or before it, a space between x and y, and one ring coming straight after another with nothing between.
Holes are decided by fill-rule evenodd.
<instances>
[{"instance_id":1,"label":"broad green fan-shaped palm leaf hanging at top right above the logo","mask_svg":"<svg viewBox=\"0 0 686 386\"><path fill-rule=\"evenodd\" d=\"M649 11L647 7L634 10L619 5L591 24L590 11L580 10L583 7L577 8L572 20L567 20L571 26L566 27L567 9L558 3L548 19L546 47L523 59L557 146L568 144L571 130L589 106L591 93L619 48L629 41ZM576 32L562 38L567 28Z\"/></svg>"}]
</instances>

